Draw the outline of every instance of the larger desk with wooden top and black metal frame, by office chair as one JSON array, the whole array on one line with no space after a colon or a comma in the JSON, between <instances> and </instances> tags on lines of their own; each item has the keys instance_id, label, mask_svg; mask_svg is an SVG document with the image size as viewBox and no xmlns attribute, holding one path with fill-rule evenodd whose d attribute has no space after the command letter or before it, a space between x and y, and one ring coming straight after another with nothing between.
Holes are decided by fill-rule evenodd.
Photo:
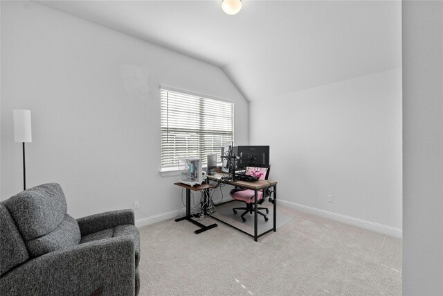
<instances>
[{"instance_id":1,"label":"larger desk with wooden top and black metal frame, by office chair","mask_svg":"<svg viewBox=\"0 0 443 296\"><path fill-rule=\"evenodd\" d=\"M277 231L277 182L271 181L271 180L257 180L255 182L245 182L245 181L228 181L223 180L223 177L226 177L228 174L223 173L215 173L215 175L208 175L208 180L214 180L217 182L222 182L224 184L229 184L232 186L237 186L239 188L245 188L245 189L252 189L255 191L254 194L254 234L249 234L248 232L244 232L242 229L239 229L233 225L230 225L223 220L220 220L219 218L211 216L211 218L214 218L215 220L218 220L221 223L224 223L225 225L228 225L230 227L233 227L237 229L239 232L243 232L244 234L247 234L248 236L252 236L254 238L254 241L257 241L257 239L260 236L263 236L264 234L267 234L268 232L276 232ZM266 232L263 232L262 234L257 233L257 191L259 190L265 190L268 188L273 187L273 205L274 205L274 214L273 214L273 228L266 230ZM264 193L264 192L263 192ZM264 196L264 194L263 194Z\"/></svg>"}]
</instances>

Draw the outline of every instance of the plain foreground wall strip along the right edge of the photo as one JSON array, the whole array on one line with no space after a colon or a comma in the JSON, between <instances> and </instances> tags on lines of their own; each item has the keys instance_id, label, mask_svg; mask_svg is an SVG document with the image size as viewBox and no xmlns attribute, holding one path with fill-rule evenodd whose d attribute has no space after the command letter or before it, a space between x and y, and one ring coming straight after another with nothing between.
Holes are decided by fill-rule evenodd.
<instances>
[{"instance_id":1,"label":"plain foreground wall strip along the right edge of the photo","mask_svg":"<svg viewBox=\"0 0 443 296\"><path fill-rule=\"evenodd\" d=\"M443 2L402 14L403 293L443 295Z\"/></svg>"}]
</instances>

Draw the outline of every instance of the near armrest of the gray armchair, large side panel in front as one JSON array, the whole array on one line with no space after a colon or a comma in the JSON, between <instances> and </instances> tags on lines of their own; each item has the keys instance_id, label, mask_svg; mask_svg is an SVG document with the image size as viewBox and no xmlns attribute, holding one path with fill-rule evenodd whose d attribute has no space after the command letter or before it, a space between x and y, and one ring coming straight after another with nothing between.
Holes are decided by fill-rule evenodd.
<instances>
[{"instance_id":1,"label":"near armrest of the gray armchair, large side panel in front","mask_svg":"<svg viewBox=\"0 0 443 296\"><path fill-rule=\"evenodd\" d=\"M108 238L57 250L0 278L1 295L134 295L134 242Z\"/></svg>"}]
</instances>

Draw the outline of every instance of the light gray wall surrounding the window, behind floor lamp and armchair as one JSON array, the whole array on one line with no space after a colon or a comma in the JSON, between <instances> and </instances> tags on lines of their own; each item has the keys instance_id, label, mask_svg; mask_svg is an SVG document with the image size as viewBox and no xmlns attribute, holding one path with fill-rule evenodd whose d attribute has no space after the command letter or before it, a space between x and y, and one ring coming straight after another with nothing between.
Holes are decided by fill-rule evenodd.
<instances>
[{"instance_id":1,"label":"light gray wall surrounding the window, behind floor lamp and armchair","mask_svg":"<svg viewBox=\"0 0 443 296\"><path fill-rule=\"evenodd\" d=\"M248 103L218 67L33 2L1 1L1 199L22 189L12 110L31 110L27 185L62 185L74 217L132 208L136 219L183 208L161 177L159 85Z\"/></svg>"}]
</instances>

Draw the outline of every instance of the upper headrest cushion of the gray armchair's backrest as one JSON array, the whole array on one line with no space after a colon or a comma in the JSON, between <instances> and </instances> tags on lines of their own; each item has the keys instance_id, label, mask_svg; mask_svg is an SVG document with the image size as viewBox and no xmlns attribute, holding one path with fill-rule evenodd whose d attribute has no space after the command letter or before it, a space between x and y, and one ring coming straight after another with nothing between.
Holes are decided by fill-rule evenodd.
<instances>
[{"instance_id":1,"label":"upper headrest cushion of the gray armchair's backrest","mask_svg":"<svg viewBox=\"0 0 443 296\"><path fill-rule=\"evenodd\" d=\"M5 201L25 241L52 232L66 215L66 199L57 183L39 185Z\"/></svg>"}]
</instances>

